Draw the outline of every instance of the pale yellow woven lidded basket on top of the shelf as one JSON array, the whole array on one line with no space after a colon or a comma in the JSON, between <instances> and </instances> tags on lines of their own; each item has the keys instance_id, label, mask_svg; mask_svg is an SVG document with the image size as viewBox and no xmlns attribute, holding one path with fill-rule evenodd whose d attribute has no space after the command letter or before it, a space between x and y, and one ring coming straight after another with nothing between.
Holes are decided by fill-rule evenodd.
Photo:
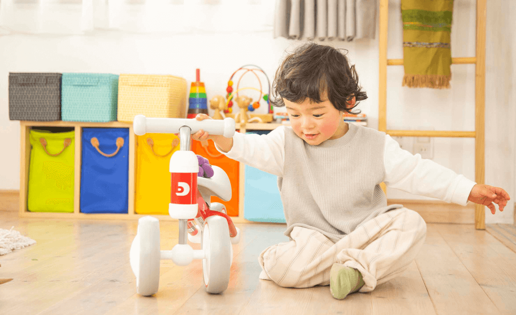
<instances>
[{"instance_id":1,"label":"pale yellow woven lidded basket on top of the shelf","mask_svg":"<svg viewBox=\"0 0 516 315\"><path fill-rule=\"evenodd\" d=\"M136 115L186 118L186 80L173 75L121 74L118 78L117 120Z\"/></svg>"}]
</instances>

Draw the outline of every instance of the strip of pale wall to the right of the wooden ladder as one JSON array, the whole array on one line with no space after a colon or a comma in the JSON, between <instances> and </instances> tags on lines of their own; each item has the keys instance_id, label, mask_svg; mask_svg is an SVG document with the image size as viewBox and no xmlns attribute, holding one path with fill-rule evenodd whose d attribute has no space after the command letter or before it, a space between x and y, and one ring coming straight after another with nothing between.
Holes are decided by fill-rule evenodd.
<instances>
[{"instance_id":1,"label":"strip of pale wall to the right of the wooden ladder","mask_svg":"<svg viewBox=\"0 0 516 315\"><path fill-rule=\"evenodd\" d=\"M516 198L515 1L489 0L486 34L486 184L503 187L512 200L503 215L486 222L513 222Z\"/></svg>"}]
</instances>

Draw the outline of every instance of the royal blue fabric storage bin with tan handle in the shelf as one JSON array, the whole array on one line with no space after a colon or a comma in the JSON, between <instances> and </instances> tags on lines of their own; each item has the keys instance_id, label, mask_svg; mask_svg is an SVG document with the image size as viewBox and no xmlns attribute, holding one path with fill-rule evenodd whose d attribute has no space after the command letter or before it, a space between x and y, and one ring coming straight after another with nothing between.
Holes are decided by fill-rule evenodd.
<instances>
[{"instance_id":1,"label":"royal blue fabric storage bin with tan handle in the shelf","mask_svg":"<svg viewBox=\"0 0 516 315\"><path fill-rule=\"evenodd\" d=\"M97 141L92 140L93 138ZM123 139L123 144L119 138ZM102 155L92 141L99 143L98 148L102 153L112 156ZM83 129L80 212L127 213L128 147L128 128Z\"/></svg>"}]
</instances>

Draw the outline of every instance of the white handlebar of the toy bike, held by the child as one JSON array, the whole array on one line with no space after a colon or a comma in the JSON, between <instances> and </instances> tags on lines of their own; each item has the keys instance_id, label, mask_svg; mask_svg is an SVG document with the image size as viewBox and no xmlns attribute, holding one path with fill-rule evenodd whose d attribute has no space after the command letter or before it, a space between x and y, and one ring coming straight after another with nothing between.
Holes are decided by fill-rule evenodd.
<instances>
[{"instance_id":1,"label":"white handlebar of the toy bike, held by the child","mask_svg":"<svg viewBox=\"0 0 516 315\"><path fill-rule=\"evenodd\" d=\"M184 118L146 118L144 115L136 115L133 121L134 133L143 136L146 133L156 134L178 134L179 129L188 126L191 133L195 134L200 129L207 131L210 135L222 135L231 138L235 134L235 121L232 118L224 120Z\"/></svg>"}]
</instances>

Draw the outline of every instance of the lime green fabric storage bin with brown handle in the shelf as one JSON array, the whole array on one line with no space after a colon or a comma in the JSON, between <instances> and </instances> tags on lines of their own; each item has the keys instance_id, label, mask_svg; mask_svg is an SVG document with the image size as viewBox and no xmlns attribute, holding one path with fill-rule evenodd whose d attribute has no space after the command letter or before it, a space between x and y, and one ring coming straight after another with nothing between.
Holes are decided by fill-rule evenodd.
<instances>
[{"instance_id":1,"label":"lime green fabric storage bin with brown handle in the shelf","mask_svg":"<svg viewBox=\"0 0 516 315\"><path fill-rule=\"evenodd\" d=\"M75 131L30 130L27 210L73 212Z\"/></svg>"}]
</instances>

